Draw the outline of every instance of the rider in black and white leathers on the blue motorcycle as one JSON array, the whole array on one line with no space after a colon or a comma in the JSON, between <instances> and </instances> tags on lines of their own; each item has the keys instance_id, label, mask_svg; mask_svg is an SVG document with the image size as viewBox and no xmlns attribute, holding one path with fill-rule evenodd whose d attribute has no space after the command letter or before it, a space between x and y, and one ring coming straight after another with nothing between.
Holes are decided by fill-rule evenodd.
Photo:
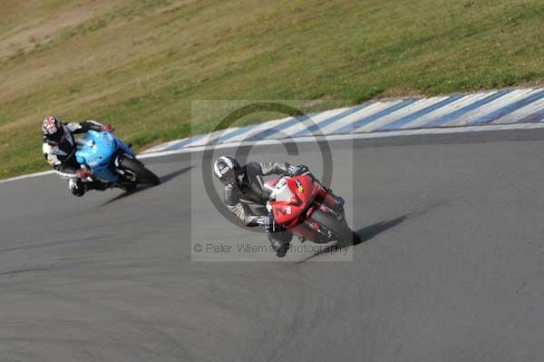
<instances>
[{"instance_id":1,"label":"rider in black and white leathers on the blue motorcycle","mask_svg":"<svg viewBox=\"0 0 544 362\"><path fill-rule=\"evenodd\" d=\"M91 171L79 164L75 159L76 141L73 134L88 131L113 132L111 124L102 125L94 121L81 123L63 123L55 117L44 119L42 131L44 132L44 156L45 160L53 166L54 171L63 179L69 179L68 187L75 196L83 196L85 191L104 191L111 187L109 182L86 181L91 176Z\"/></svg>"}]
</instances>

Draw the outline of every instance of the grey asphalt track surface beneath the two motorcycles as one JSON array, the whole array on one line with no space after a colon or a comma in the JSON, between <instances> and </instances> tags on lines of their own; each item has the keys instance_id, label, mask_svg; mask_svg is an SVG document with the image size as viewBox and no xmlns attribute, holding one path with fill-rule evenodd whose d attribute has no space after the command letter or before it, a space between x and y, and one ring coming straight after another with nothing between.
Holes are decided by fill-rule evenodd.
<instances>
[{"instance_id":1,"label":"grey asphalt track surface beneath the two motorcycles","mask_svg":"<svg viewBox=\"0 0 544 362\"><path fill-rule=\"evenodd\" d=\"M267 242L220 217L199 155L148 160L163 183L130 195L1 184L0 360L539 360L543 140L331 143L332 186L364 240L353 261L190 261L195 236Z\"/></svg>"}]
</instances>

